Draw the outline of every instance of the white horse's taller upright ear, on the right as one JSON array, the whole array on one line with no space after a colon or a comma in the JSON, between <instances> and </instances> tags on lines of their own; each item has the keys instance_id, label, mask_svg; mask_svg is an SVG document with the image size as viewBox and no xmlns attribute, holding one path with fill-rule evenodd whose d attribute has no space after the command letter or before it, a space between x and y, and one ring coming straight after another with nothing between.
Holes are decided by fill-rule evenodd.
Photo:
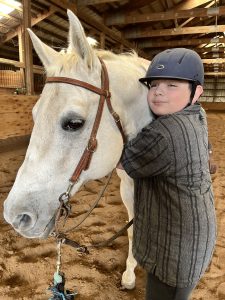
<instances>
[{"instance_id":1,"label":"white horse's taller upright ear, on the right","mask_svg":"<svg viewBox=\"0 0 225 300\"><path fill-rule=\"evenodd\" d=\"M70 21L69 49L77 52L86 61L87 66L92 69L96 62L96 55L87 41L84 29L71 10L67 10L67 15Z\"/></svg>"}]
</instances>

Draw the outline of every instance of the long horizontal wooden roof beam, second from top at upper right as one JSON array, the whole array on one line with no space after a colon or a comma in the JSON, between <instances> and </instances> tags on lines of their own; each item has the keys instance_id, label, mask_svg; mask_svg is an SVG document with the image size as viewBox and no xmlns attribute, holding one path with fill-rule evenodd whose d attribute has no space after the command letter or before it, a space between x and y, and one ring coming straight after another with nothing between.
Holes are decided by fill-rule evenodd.
<instances>
[{"instance_id":1,"label":"long horizontal wooden roof beam, second from top at upper right","mask_svg":"<svg viewBox=\"0 0 225 300\"><path fill-rule=\"evenodd\" d=\"M160 37L160 36L175 36L175 35L186 35L186 34L199 34L199 33L216 33L224 32L225 25L211 25L211 26L196 26L196 27L183 27L183 28L172 28L172 29L156 29L152 28L136 28L126 30L124 37L126 39L138 39L146 37Z\"/></svg>"}]
</instances>

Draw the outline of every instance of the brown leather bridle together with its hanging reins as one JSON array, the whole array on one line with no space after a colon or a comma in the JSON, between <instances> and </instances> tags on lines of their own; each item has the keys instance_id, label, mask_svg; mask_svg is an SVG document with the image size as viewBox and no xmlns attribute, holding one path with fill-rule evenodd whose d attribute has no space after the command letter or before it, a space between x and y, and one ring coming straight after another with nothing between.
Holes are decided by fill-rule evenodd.
<instances>
[{"instance_id":1,"label":"brown leather bridle together with its hanging reins","mask_svg":"<svg viewBox=\"0 0 225 300\"><path fill-rule=\"evenodd\" d=\"M109 110L110 114L112 115L112 117L113 117L113 119L116 123L116 126L118 127L118 129L121 133L121 136L123 138L123 142L124 143L126 142L126 136L124 134L119 115L113 110L113 107L112 107L112 104L111 104L111 93L109 91L108 72L107 72L107 69L106 69L106 66L105 66L105 63L103 62L103 60L100 59L100 58L99 58L99 60L100 60L101 66L102 66L102 68L101 68L101 88L98 88L98 87L96 87L92 84L89 84L87 82L80 81L78 79L68 78L68 77L47 77L47 79L46 79L46 83L71 84L71 85L82 87L84 89L92 91L95 94L100 95L97 113L96 113L96 116L95 116L94 124L93 124L92 130L91 130L91 134L90 134L87 146L86 146L86 148L85 148L85 150L84 150L84 152L83 152L83 154L82 154L82 156L81 156L81 158L78 162L78 165L76 166L71 178L69 179L69 186L67 188L67 191L65 193L63 193L62 195L60 195L60 197L59 197L60 206L59 206L59 208L56 212L55 231L53 233L53 235L56 236L56 238L58 240L60 240L61 243L68 244L72 247L78 248L78 251L86 252L86 253L88 252L87 247L88 248L90 248L90 247L100 247L100 246L107 245L107 244L111 243L117 236L121 235L133 223L133 220L131 220L128 224L126 224L124 226L124 228L122 228L117 234L115 234L108 241L102 242L102 243L99 243L99 244L96 244L96 245L90 245L90 246L87 246L87 247L86 246L80 246L77 242L69 240L68 238L66 238L65 234L59 232L59 228L58 228L59 219L62 216L64 216L65 221L66 221L66 218L68 217L68 215L70 213L71 207L70 207L70 204L69 204L69 199L71 197L71 190L72 190L73 186L78 182L82 171L87 170L89 168L93 153L97 149L98 143L97 143L96 136L97 136L97 132L98 132L98 129L99 129L99 125L100 125L100 121L101 121L102 112L103 112L105 102L107 104L107 107L108 107L108 110ZM107 181L107 183L108 182L109 182L109 180ZM103 190L106 189L107 183L106 183ZM103 192L101 193L101 195L103 194ZM101 196L95 202L95 204L92 206L91 211L97 205L100 198L101 198ZM88 212L86 214L86 216L85 216L85 218L83 218L82 222L89 216L90 212ZM80 222L78 225L70 228L65 233L75 229L82 222Z\"/></svg>"}]
</instances>

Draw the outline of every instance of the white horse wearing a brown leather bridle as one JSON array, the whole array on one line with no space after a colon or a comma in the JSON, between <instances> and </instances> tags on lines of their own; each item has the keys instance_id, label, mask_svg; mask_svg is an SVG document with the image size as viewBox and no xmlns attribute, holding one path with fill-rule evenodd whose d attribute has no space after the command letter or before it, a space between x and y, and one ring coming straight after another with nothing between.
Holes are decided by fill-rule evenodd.
<instances>
[{"instance_id":1,"label":"white horse wearing a brown leather bridle","mask_svg":"<svg viewBox=\"0 0 225 300\"><path fill-rule=\"evenodd\" d=\"M94 51L88 44L77 17L68 11L69 47L56 52L29 30L33 46L47 76L76 78L101 87L101 64L108 73L112 106L119 114L128 139L152 120L147 104L147 89L138 82L149 62L135 54L115 55ZM25 160L4 203L4 217L27 238L47 238L54 227L58 197L68 186L68 179L78 164L94 122L99 95L65 83L46 84L33 108L34 127ZM97 133L98 146L90 167L83 171L72 189L74 195L89 180L106 176L120 159L123 141L115 122L104 105ZM118 170L121 197L133 218L133 181ZM132 228L128 230L129 253L122 286L135 286L136 261L132 255Z\"/></svg>"}]
</instances>

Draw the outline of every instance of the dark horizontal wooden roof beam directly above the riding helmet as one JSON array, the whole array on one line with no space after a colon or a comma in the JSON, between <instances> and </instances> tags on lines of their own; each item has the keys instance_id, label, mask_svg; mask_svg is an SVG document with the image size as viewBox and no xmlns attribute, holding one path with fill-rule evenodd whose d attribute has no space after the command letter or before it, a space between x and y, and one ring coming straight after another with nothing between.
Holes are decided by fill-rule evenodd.
<instances>
[{"instance_id":1,"label":"dark horizontal wooden roof beam directly above the riding helmet","mask_svg":"<svg viewBox=\"0 0 225 300\"><path fill-rule=\"evenodd\" d=\"M138 43L138 47L143 48L173 48L173 47L181 47L181 46L197 46L202 44L220 44L225 43L225 38L219 38L213 40L211 38L208 39L185 39L185 40L173 40L173 41L154 41L154 40L145 40L143 42Z\"/></svg>"}]
</instances>

